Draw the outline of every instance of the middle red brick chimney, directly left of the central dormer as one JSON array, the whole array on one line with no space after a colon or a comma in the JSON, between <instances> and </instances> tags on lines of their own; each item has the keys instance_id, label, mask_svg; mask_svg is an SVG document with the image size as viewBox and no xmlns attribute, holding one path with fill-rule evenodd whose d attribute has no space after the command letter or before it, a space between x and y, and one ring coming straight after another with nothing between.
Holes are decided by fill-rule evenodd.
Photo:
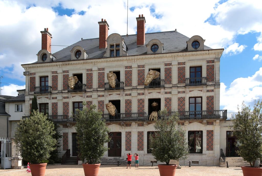
<instances>
[{"instance_id":1,"label":"middle red brick chimney, directly left of the central dormer","mask_svg":"<svg viewBox=\"0 0 262 176\"><path fill-rule=\"evenodd\" d=\"M99 24L99 49L106 49L106 39L108 37L109 25L106 20L101 20Z\"/></svg>"}]
</instances>

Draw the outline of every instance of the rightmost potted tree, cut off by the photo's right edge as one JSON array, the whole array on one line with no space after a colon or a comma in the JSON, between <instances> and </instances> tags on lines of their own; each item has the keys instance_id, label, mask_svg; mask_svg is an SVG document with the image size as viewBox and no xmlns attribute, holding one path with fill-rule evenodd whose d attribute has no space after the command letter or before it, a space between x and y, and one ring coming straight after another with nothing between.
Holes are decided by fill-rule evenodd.
<instances>
[{"instance_id":1,"label":"rightmost potted tree, cut off by the photo's right edge","mask_svg":"<svg viewBox=\"0 0 262 176\"><path fill-rule=\"evenodd\" d=\"M241 110L233 120L234 135L237 137L238 154L250 163L242 166L244 176L261 176L262 168L255 167L257 159L262 158L262 101L255 101L254 109L242 103Z\"/></svg>"}]
</instances>

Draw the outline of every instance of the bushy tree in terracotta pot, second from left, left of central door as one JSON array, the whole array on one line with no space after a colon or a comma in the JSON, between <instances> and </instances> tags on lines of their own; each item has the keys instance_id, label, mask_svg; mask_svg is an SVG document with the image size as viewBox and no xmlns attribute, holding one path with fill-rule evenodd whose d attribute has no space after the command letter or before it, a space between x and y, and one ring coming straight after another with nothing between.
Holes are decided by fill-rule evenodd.
<instances>
[{"instance_id":1,"label":"bushy tree in terracotta pot, second from left, left of central door","mask_svg":"<svg viewBox=\"0 0 262 176\"><path fill-rule=\"evenodd\" d=\"M109 142L110 130L102 120L102 112L96 110L96 105L87 108L85 101L83 109L76 115L76 121L79 158L84 162L85 176L98 175L100 159L108 150L104 144Z\"/></svg>"}]
</instances>

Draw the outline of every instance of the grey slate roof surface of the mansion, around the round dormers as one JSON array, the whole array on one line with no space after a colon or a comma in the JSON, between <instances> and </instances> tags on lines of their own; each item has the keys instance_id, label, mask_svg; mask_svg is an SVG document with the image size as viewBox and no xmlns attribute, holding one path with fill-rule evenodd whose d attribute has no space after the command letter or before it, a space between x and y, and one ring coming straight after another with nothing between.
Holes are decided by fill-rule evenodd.
<instances>
[{"instance_id":1,"label":"grey slate roof surface of the mansion, around the round dormers","mask_svg":"<svg viewBox=\"0 0 262 176\"><path fill-rule=\"evenodd\" d=\"M152 39L158 39L161 43L164 44L163 53L171 52L180 52L186 51L187 41L189 37L184 36L183 34L177 31L168 31L168 32L155 32L155 33L146 33L145 34L145 45L137 46L137 35L124 35L122 36L125 44L127 45L127 54L130 55L140 55L147 53L146 44ZM53 61L67 61L71 60L71 53L75 46L81 46L86 50L88 54L87 59L97 59L103 58L103 54L106 52L106 49L99 50L99 38L92 39L83 39L77 43L72 44L69 47L66 47L56 53L53 53L53 56L57 59ZM204 50L212 49L208 46L204 46Z\"/></svg>"}]
</instances>

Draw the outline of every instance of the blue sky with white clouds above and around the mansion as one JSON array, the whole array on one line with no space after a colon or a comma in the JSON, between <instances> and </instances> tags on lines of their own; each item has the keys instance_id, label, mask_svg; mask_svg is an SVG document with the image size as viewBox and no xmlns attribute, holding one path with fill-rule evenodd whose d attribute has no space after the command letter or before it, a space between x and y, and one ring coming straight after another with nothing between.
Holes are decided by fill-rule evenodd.
<instances>
[{"instance_id":1,"label":"blue sky with white clouds above and around the mansion","mask_svg":"<svg viewBox=\"0 0 262 176\"><path fill-rule=\"evenodd\" d=\"M144 14L146 32L172 31L200 35L205 45L225 48L220 60L220 108L236 111L245 101L262 98L262 2L250 0L129 1L128 34ZM80 5L81 4L81 5ZM110 11L108 11L110 9ZM195 10L198 9L198 10ZM99 36L97 22L111 33L126 34L127 1L0 0L0 76L2 94L17 95L25 86L21 64L35 62L41 33L48 27L53 45L71 45ZM63 47L52 46L52 53Z\"/></svg>"}]
</instances>

